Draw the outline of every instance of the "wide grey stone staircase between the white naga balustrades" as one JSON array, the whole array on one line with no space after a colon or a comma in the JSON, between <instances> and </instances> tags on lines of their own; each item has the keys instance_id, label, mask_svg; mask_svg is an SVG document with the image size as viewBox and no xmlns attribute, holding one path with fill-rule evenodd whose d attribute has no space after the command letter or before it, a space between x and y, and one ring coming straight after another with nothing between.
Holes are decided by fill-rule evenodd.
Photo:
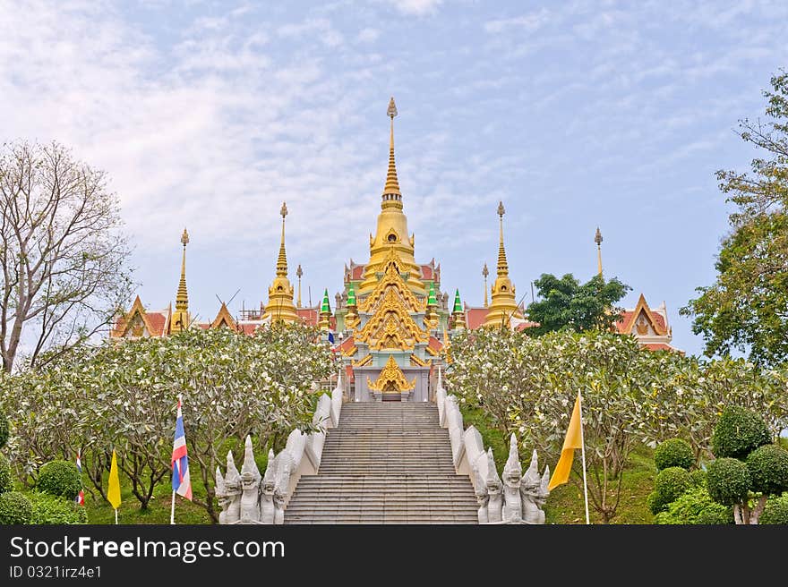
<instances>
[{"instance_id":1,"label":"wide grey stone staircase between the white naga balustrades","mask_svg":"<svg viewBox=\"0 0 788 587\"><path fill-rule=\"evenodd\" d=\"M285 523L478 523L477 507L435 404L349 403L318 474L298 481Z\"/></svg>"}]
</instances>

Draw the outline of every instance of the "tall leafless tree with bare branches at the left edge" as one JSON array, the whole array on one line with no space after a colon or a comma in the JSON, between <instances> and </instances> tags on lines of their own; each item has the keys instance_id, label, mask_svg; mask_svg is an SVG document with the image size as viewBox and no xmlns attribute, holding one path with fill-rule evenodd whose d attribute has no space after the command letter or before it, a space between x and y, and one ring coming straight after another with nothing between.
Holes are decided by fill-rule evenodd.
<instances>
[{"instance_id":1,"label":"tall leafless tree with bare branches at the left edge","mask_svg":"<svg viewBox=\"0 0 788 587\"><path fill-rule=\"evenodd\" d=\"M56 142L3 145L0 208L0 353L10 372L23 331L32 367L42 351L107 326L131 293L130 249L107 175Z\"/></svg>"}]
</instances>

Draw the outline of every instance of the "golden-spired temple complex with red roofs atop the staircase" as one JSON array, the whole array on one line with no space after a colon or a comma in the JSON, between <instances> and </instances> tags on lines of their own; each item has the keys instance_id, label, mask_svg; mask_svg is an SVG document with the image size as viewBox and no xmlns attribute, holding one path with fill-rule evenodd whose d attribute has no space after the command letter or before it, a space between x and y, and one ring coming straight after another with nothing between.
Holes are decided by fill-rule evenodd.
<instances>
[{"instance_id":1,"label":"golden-spired temple complex with red roofs atop the staircase","mask_svg":"<svg viewBox=\"0 0 788 587\"><path fill-rule=\"evenodd\" d=\"M343 288L334 296L331 309L328 289L314 307L303 307L298 265L297 297L288 277L285 247L287 205L282 204L281 239L275 272L268 288L268 302L259 309L242 310L233 316L225 303L216 318L197 322L189 311L186 288L186 245L184 229L181 276L176 307L146 310L139 298L116 320L112 337L168 336L184 328L233 328L252 334L261 325L274 321L303 322L318 327L321 336L334 345L346 373L347 398L355 401L433 401L437 367L450 361L450 339L469 328L528 328L525 307L518 302L515 284L509 276L504 245L503 202L497 208L499 224L498 263L488 290L489 270L484 265L484 302L472 307L462 302L458 289L453 295L441 289L441 265L435 259L416 261L415 235L409 234L407 216L399 189L394 153L394 117L397 107L390 99L389 166L381 193L381 211L374 234L369 235L369 260L349 259L344 268ZM602 272L602 235L597 228L595 242L598 270ZM490 294L488 299L488 292ZM453 301L450 303L450 298ZM634 309L624 311L616 328L631 334L652 350L675 350L667 311L652 310L641 294Z\"/></svg>"}]
</instances>

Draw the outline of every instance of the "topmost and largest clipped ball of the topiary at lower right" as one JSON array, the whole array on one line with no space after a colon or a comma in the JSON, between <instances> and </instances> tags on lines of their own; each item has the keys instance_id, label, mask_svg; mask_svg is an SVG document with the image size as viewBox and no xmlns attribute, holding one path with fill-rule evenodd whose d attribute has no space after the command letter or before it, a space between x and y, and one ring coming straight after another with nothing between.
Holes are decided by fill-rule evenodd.
<instances>
[{"instance_id":1,"label":"topmost and largest clipped ball of the topiary at lower right","mask_svg":"<svg viewBox=\"0 0 788 587\"><path fill-rule=\"evenodd\" d=\"M732 405L723 411L711 437L711 450L717 458L742 461L758 447L770 444L772 436L758 413Z\"/></svg>"}]
</instances>

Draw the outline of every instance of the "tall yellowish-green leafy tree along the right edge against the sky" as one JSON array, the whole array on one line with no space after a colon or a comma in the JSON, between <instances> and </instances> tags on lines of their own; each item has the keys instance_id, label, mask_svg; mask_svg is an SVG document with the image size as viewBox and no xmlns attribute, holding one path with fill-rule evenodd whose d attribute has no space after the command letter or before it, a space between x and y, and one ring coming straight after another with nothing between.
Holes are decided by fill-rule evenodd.
<instances>
[{"instance_id":1,"label":"tall yellowish-green leafy tree along the right edge against the sky","mask_svg":"<svg viewBox=\"0 0 788 587\"><path fill-rule=\"evenodd\" d=\"M771 86L764 92L767 119L739 123L741 140L760 157L749 172L717 172L736 209L715 283L698 287L698 298L680 310L694 317L692 330L704 337L709 356L738 350L766 365L788 358L788 72L773 76Z\"/></svg>"}]
</instances>

